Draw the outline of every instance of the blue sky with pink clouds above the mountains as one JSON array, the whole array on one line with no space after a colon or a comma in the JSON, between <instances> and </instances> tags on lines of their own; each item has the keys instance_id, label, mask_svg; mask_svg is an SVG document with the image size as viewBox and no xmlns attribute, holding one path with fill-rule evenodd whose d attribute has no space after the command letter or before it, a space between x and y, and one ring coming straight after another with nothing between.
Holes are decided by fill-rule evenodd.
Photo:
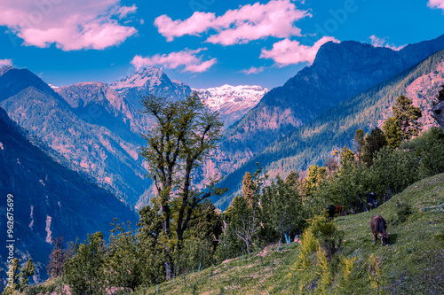
<instances>
[{"instance_id":1,"label":"blue sky with pink clouds above the mountains","mask_svg":"<svg viewBox=\"0 0 444 295\"><path fill-rule=\"evenodd\" d=\"M22 0L0 3L0 65L45 82L158 66L194 88L282 85L322 43L400 49L444 34L444 0Z\"/></svg>"}]
</instances>

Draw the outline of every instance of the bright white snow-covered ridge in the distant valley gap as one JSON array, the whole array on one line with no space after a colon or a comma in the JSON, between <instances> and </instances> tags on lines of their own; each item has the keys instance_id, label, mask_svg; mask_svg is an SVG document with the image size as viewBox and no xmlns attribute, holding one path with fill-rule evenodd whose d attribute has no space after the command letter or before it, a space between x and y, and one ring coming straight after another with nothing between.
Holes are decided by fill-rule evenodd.
<instances>
[{"instance_id":1,"label":"bright white snow-covered ridge in the distant valley gap","mask_svg":"<svg viewBox=\"0 0 444 295\"><path fill-rule=\"evenodd\" d=\"M228 128L236 120L250 111L268 89L257 85L223 85L209 89L192 89L202 101L214 111L218 111Z\"/></svg>"}]
</instances>

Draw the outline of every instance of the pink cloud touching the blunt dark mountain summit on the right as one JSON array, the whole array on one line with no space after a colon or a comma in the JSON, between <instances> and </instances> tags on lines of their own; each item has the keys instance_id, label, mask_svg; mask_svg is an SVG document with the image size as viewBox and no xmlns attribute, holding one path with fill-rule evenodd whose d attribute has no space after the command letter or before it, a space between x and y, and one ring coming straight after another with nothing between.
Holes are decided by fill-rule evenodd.
<instances>
[{"instance_id":1,"label":"pink cloud touching the blunt dark mountain summit on the right","mask_svg":"<svg viewBox=\"0 0 444 295\"><path fill-rule=\"evenodd\" d=\"M298 43L296 40L290 41L285 38L278 43L274 43L272 50L262 49L260 58L272 58L279 66L296 65L302 62L313 64L313 60L321 45L329 41L339 43L334 37L324 36L314 43L313 46L306 46Z\"/></svg>"}]
</instances>

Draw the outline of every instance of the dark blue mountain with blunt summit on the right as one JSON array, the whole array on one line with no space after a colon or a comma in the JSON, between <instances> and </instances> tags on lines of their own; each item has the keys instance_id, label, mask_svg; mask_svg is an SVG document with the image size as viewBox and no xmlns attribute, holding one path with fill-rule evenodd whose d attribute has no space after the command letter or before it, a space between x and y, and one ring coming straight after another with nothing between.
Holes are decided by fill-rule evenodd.
<instances>
[{"instance_id":1,"label":"dark blue mountain with blunt summit on the right","mask_svg":"<svg viewBox=\"0 0 444 295\"><path fill-rule=\"evenodd\" d=\"M307 66L281 87L271 89L226 132L227 154L256 155L274 140L341 101L384 82L444 49L444 35L396 51L366 43L325 43ZM231 157L231 156L230 156ZM241 160L242 162L242 160Z\"/></svg>"}]
</instances>

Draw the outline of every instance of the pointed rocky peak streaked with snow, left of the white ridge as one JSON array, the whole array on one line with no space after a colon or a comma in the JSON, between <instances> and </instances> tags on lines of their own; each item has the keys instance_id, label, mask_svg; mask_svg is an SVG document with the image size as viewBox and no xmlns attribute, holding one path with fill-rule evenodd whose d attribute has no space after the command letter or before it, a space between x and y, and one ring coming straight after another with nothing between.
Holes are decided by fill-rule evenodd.
<instances>
[{"instance_id":1,"label":"pointed rocky peak streaked with snow, left of the white ridge","mask_svg":"<svg viewBox=\"0 0 444 295\"><path fill-rule=\"evenodd\" d=\"M122 94L131 105L138 108L140 97L150 94L170 99L183 99L191 94L188 85L171 81L165 73L155 66L149 66L120 81L112 82L109 84L109 88Z\"/></svg>"}]
</instances>

